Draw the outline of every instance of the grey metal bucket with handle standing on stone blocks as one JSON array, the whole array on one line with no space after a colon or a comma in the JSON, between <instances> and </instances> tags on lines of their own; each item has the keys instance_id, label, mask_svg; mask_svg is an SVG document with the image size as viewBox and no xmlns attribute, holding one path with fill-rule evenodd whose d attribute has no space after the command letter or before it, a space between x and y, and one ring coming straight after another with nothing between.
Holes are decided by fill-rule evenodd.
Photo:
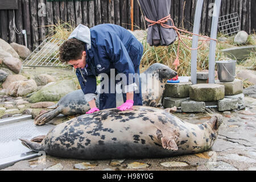
<instances>
[{"instance_id":1,"label":"grey metal bucket with handle standing on stone blocks","mask_svg":"<svg viewBox=\"0 0 256 182\"><path fill-rule=\"evenodd\" d=\"M234 81L236 78L236 60L216 61L218 80L221 82Z\"/></svg>"}]
</instances>

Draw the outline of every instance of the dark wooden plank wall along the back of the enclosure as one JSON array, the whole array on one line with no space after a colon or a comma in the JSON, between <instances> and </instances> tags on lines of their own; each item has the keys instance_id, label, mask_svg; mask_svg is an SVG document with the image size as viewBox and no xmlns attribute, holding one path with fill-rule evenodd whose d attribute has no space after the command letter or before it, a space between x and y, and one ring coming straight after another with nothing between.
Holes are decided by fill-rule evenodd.
<instances>
[{"instance_id":1,"label":"dark wooden plank wall along the back of the enclosure","mask_svg":"<svg viewBox=\"0 0 256 182\"><path fill-rule=\"evenodd\" d=\"M238 13L241 30L250 34L251 1L255 0L222 0L220 15ZM193 30L197 0L171 0L170 14L175 26ZM200 33L210 35L210 26L214 0L204 0ZM253 4L254 5L254 4ZM79 23L88 27L101 23L114 23L131 28L130 0L93 0L93 1L55 1L18 0L18 9L0 10L0 38L6 42L24 45L22 30L27 32L27 46L35 49L47 35L49 24L59 20L71 21L73 26ZM145 22L138 0L134 0L134 30L145 28ZM42 16L42 14L45 14ZM16 31L15 31L16 30Z\"/></svg>"}]
</instances>

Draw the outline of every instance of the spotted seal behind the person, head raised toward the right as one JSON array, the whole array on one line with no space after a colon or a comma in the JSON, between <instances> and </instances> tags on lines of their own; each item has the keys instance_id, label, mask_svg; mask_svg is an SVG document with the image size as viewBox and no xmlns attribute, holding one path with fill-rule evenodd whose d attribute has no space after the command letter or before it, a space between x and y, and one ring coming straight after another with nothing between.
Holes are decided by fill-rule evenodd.
<instances>
[{"instance_id":1,"label":"spotted seal behind the person, head raised toward the right","mask_svg":"<svg viewBox=\"0 0 256 182\"><path fill-rule=\"evenodd\" d=\"M150 80L142 79L142 88L146 88L146 93L142 93L142 101L145 106L156 107L160 98L163 95L164 84L168 78L175 77L177 73L166 65L155 63L152 64L148 69L143 72L143 74L151 73L152 77L150 79L153 81L158 81L159 87L154 88L154 83L152 83L152 89L147 88L147 82ZM158 91L158 94L156 94ZM97 93L100 93L100 87L97 86ZM97 95L96 105L99 103L99 94ZM117 94L117 102L122 102L122 94ZM121 103L122 104L122 103ZM119 104L119 105L121 105ZM85 101L84 93L82 90L75 90L71 93L68 93L60 99L60 101L49 109L47 113L39 114L35 119L35 125L44 125L45 123L51 121L59 114L63 115L75 115L75 114L84 114L90 109L88 102Z\"/></svg>"}]
</instances>

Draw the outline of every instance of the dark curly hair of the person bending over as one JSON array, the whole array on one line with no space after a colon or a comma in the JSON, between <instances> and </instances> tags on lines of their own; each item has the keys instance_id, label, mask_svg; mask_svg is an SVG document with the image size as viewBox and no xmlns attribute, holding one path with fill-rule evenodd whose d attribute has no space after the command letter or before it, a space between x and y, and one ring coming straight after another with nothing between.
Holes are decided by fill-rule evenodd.
<instances>
[{"instance_id":1,"label":"dark curly hair of the person bending over","mask_svg":"<svg viewBox=\"0 0 256 182\"><path fill-rule=\"evenodd\" d=\"M83 42L75 38L68 39L60 46L59 59L62 63L81 59L82 51L85 51Z\"/></svg>"}]
</instances>

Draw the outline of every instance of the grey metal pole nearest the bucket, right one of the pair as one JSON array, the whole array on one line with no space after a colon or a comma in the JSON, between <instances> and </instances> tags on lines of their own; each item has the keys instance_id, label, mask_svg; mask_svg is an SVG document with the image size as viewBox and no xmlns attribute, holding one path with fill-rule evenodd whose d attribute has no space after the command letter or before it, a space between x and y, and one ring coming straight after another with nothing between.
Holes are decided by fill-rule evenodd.
<instances>
[{"instance_id":1,"label":"grey metal pole nearest the bucket, right one of the pair","mask_svg":"<svg viewBox=\"0 0 256 182\"><path fill-rule=\"evenodd\" d=\"M212 29L210 30L210 38L217 38L218 28L218 16L220 14L221 0L214 2L213 17L212 17ZM216 41L210 40L210 52L209 52L209 84L214 84L214 70L215 70L215 51Z\"/></svg>"}]
</instances>

